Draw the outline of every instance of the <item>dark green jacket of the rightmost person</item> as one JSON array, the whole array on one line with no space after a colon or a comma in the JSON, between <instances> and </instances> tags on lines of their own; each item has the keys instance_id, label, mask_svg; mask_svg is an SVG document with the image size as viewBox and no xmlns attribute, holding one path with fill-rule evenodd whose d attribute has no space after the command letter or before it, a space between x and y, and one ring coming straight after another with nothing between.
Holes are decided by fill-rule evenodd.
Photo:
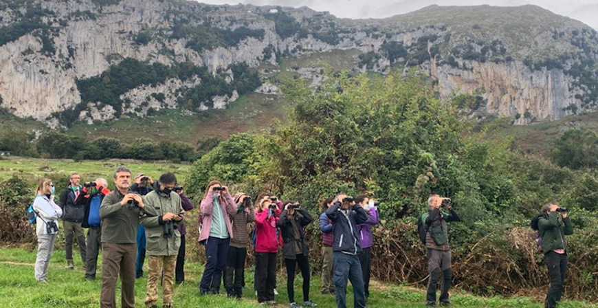
<instances>
[{"instance_id":1,"label":"dark green jacket of the rightmost person","mask_svg":"<svg viewBox=\"0 0 598 308\"><path fill-rule=\"evenodd\" d=\"M544 213L538 219L538 228L542 236L542 252L546 254L555 249L564 249L568 252L565 235L573 234L573 225L569 217L562 218L558 212Z\"/></svg>"}]
</instances>

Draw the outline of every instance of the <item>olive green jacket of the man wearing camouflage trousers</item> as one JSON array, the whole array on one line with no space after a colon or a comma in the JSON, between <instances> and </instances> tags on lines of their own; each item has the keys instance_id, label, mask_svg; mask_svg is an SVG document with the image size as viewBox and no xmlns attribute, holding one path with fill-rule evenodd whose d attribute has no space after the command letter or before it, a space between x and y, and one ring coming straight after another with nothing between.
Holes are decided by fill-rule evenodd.
<instances>
[{"instance_id":1,"label":"olive green jacket of the man wearing camouflage trousers","mask_svg":"<svg viewBox=\"0 0 598 308\"><path fill-rule=\"evenodd\" d=\"M145 227L146 254L148 256L176 256L181 245L181 233L174 222L171 236L166 236L168 221L162 221L162 216L167 212L179 214L183 210L181 197L176 192L165 195L164 192L153 190L144 197L146 215L141 219Z\"/></svg>"}]
</instances>

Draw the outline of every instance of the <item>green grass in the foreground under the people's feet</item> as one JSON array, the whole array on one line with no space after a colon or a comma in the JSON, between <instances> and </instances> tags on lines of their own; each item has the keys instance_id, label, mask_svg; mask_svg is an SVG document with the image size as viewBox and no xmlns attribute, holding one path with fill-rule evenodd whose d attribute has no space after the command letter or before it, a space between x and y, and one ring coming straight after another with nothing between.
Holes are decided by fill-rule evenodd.
<instances>
[{"instance_id":1,"label":"green grass in the foreground under the people's feet","mask_svg":"<svg viewBox=\"0 0 598 308\"><path fill-rule=\"evenodd\" d=\"M65 253L61 249L62 243L57 243L48 271L48 285L36 283L34 279L35 251L34 248L3 248L0 250L0 307L98 307L100 298L101 274L98 279L88 282L83 279L84 271L80 259L75 258L75 270L65 268ZM76 252L76 249L74 250ZM98 264L101 264L98 260ZM99 266L101 268L101 266ZM185 267L186 281L175 287L175 307L260 307L253 293L253 268L247 268L245 283L247 289L243 293L243 300L232 300L224 295L199 296L197 285L203 270L200 263L188 262ZM283 272L282 269L280 272ZM278 292L276 296L278 307L287 307L286 277L278 274ZM313 274L311 281L311 300L320 308L334 308L334 296L320 294L319 273ZM302 298L302 278L295 281L296 299ZM120 283L117 285L120 286ZM119 287L120 288L120 287ZM146 290L146 279L135 281L135 306L144 307L143 301ZM117 291L117 303L120 290ZM401 285L382 285L373 282L370 287L370 307L423 308L424 292ZM481 298L453 292L452 307L517 307L540 308L542 303L533 298ZM159 302L160 303L160 302ZM353 307L352 288L348 288L348 307ZM562 308L596 307L589 303L565 301Z\"/></svg>"}]
</instances>

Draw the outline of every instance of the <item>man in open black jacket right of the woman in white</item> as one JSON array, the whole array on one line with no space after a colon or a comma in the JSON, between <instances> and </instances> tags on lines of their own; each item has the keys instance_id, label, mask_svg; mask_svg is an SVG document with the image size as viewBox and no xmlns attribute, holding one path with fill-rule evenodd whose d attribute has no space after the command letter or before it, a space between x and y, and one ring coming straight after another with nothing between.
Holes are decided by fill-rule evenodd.
<instances>
[{"instance_id":1,"label":"man in open black jacket right of the woman in white","mask_svg":"<svg viewBox=\"0 0 598 308\"><path fill-rule=\"evenodd\" d=\"M79 252L81 254L82 263L85 264L87 256L85 255L85 233L81 227L83 221L83 207L82 203L77 203L76 200L82 193L82 187L79 185L80 176L77 173L69 175L69 186L63 190L58 199L58 206L63 210L63 223L65 227L65 253L67 256L67 267L71 270L75 269L73 262L73 237L76 236L79 245Z\"/></svg>"}]
</instances>

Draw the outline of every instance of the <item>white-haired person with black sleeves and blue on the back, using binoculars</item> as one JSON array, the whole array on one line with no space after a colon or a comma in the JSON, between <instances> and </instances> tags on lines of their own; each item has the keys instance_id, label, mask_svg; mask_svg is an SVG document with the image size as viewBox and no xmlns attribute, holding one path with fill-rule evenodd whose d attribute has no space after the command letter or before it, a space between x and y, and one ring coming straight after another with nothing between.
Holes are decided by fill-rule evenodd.
<instances>
[{"instance_id":1,"label":"white-haired person with black sleeves and blue on the back, using binoculars","mask_svg":"<svg viewBox=\"0 0 598 308\"><path fill-rule=\"evenodd\" d=\"M85 204L83 214L82 228L87 230L87 263L85 264L85 279L88 281L96 280L96 268L98 265L98 254L102 245L102 224L100 220L100 205L105 195L110 193L108 190L108 181L98 178L94 182L96 186L83 188L83 193L79 195L78 202ZM87 186L87 184L86 184Z\"/></svg>"}]
</instances>

